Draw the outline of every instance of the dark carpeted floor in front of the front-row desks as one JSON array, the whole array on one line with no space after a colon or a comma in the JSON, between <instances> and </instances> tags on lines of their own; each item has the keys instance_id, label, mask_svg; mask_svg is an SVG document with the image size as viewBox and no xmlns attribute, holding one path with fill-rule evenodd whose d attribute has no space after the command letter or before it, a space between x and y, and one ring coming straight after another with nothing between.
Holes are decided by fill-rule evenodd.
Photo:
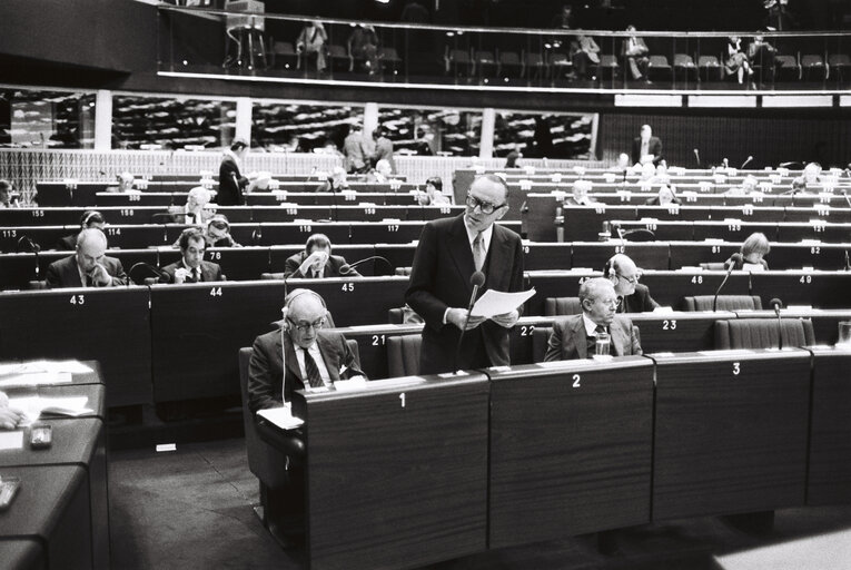
<instances>
[{"instance_id":1,"label":"dark carpeted floor in front of the front-row desks","mask_svg":"<svg viewBox=\"0 0 851 570\"><path fill-rule=\"evenodd\" d=\"M175 452L115 451L109 472L112 568L296 569L251 505L257 481L241 439L180 444ZM353 521L354 522L354 521ZM712 568L712 557L851 527L851 505L778 511L763 538L716 518L649 524L619 533L620 552L600 554L593 537L483 552L431 570Z\"/></svg>"}]
</instances>

